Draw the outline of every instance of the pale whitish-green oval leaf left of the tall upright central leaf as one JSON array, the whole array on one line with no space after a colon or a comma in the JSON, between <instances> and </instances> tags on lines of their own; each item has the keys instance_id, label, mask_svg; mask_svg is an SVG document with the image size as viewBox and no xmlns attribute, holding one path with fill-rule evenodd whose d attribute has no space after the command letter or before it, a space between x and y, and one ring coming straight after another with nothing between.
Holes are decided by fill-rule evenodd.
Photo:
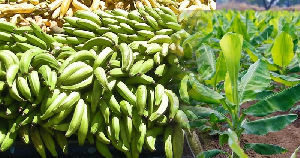
<instances>
[{"instance_id":1,"label":"pale whitish-green oval leaf left of the tall upright central leaf","mask_svg":"<svg viewBox=\"0 0 300 158\"><path fill-rule=\"evenodd\" d=\"M216 73L216 61L212 48L202 43L195 55L200 78L202 80L211 79Z\"/></svg>"}]
</instances>

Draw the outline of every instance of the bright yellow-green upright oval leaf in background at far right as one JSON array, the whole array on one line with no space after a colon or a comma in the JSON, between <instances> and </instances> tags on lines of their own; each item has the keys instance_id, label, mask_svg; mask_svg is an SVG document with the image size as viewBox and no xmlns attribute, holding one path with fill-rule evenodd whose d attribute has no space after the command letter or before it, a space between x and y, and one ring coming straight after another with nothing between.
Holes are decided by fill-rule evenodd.
<instances>
[{"instance_id":1,"label":"bright yellow-green upright oval leaf in background at far right","mask_svg":"<svg viewBox=\"0 0 300 158\"><path fill-rule=\"evenodd\" d=\"M286 67L294 57L294 43L286 32L281 32L275 38L271 53L273 61L280 67Z\"/></svg>"}]
</instances>

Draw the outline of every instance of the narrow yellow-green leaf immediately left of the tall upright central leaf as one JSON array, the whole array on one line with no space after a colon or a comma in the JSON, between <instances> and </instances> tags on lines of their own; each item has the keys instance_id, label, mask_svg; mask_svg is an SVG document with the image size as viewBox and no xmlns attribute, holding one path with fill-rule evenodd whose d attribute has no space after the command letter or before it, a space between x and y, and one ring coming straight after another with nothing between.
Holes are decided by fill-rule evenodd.
<instances>
[{"instance_id":1,"label":"narrow yellow-green leaf immediately left of the tall upright central leaf","mask_svg":"<svg viewBox=\"0 0 300 158\"><path fill-rule=\"evenodd\" d=\"M216 63L216 73L210 80L205 81L205 83L216 86L220 81L225 79L226 72L225 58L223 53L220 53Z\"/></svg>"}]
</instances>

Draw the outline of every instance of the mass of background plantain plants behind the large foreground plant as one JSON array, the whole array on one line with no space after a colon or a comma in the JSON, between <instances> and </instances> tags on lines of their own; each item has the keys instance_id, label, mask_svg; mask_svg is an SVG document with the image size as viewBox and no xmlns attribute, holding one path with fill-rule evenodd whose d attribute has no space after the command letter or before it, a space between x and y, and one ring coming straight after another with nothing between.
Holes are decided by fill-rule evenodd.
<instances>
[{"instance_id":1,"label":"mass of background plantain plants behind the large foreground plant","mask_svg":"<svg viewBox=\"0 0 300 158\"><path fill-rule=\"evenodd\" d=\"M298 14L272 11L257 13L252 10L184 12L179 20L192 36L182 47L185 56L190 58L202 43L213 50L219 49L219 41L226 33L239 33L243 35L241 69L248 69L251 63L264 59L271 71L271 79L280 83L282 86L279 88L283 89L300 83L296 73L299 72L300 57Z\"/></svg>"}]
</instances>

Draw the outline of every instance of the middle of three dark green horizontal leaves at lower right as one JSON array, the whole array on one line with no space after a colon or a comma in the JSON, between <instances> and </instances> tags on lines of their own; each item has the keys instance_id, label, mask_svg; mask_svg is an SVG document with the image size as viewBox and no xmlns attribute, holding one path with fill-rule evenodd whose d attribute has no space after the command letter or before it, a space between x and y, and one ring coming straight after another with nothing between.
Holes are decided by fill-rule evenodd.
<instances>
[{"instance_id":1,"label":"middle of three dark green horizontal leaves at lower right","mask_svg":"<svg viewBox=\"0 0 300 158\"><path fill-rule=\"evenodd\" d=\"M297 119L298 115L288 114L264 118L242 125L245 134L266 135L269 132L277 132L284 129Z\"/></svg>"}]
</instances>

